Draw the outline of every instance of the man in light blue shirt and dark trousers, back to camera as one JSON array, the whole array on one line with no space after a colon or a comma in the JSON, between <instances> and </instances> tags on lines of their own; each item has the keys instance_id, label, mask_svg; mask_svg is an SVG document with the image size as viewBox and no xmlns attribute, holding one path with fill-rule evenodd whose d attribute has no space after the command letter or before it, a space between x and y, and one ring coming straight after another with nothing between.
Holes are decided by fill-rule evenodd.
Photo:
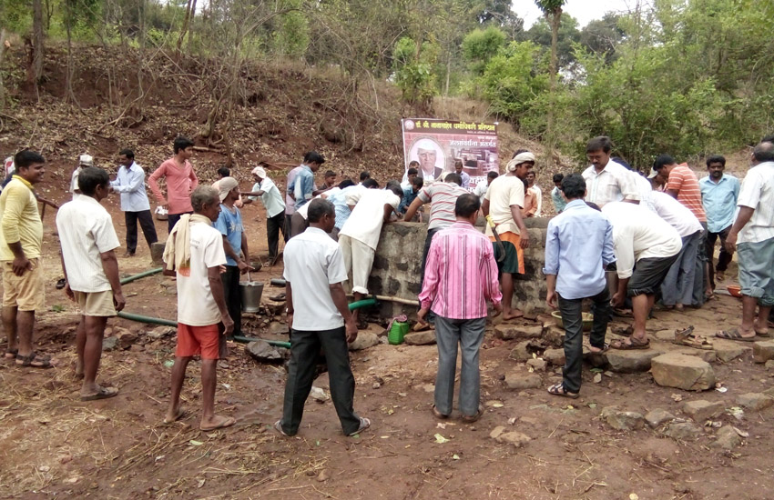
<instances>
[{"instance_id":1,"label":"man in light blue shirt and dark trousers, back to camera","mask_svg":"<svg viewBox=\"0 0 774 500\"><path fill-rule=\"evenodd\" d=\"M593 302L591 352L603 353L607 350L605 334L610 315L605 268L616 257L613 225L583 201L586 196L583 176L567 175L562 180L562 191L567 205L548 223L543 272L548 286L545 302L554 309L558 305L565 324L565 368L563 381L548 387L548 392L575 398L580 392L583 364L581 306L585 298Z\"/></svg>"}]
</instances>

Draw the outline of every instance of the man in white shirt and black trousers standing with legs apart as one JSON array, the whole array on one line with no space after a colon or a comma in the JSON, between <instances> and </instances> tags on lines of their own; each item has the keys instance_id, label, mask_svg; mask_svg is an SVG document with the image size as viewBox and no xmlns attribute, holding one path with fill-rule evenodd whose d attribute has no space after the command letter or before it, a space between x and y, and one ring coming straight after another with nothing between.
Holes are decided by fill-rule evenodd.
<instances>
[{"instance_id":1,"label":"man in white shirt and black trousers standing with legs apart","mask_svg":"<svg viewBox=\"0 0 774 500\"><path fill-rule=\"evenodd\" d=\"M347 343L357 338L358 328L341 285L347 279L341 247L328 235L336 224L336 212L331 202L320 198L307 205L310 226L285 246L283 276L292 346L282 418L274 428L281 435L298 433L322 348L341 429L344 435L357 435L371 421L355 414L352 407L355 378Z\"/></svg>"}]
</instances>

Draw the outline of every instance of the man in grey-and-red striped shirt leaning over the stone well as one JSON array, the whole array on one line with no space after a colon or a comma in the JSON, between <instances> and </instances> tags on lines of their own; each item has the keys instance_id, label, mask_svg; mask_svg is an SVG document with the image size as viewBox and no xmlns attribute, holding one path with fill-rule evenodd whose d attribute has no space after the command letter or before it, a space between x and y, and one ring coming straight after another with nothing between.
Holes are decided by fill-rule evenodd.
<instances>
[{"instance_id":1,"label":"man in grey-and-red striped shirt leaning over the stone well","mask_svg":"<svg viewBox=\"0 0 774 500\"><path fill-rule=\"evenodd\" d=\"M419 207L430 203L430 219L427 224L427 237L424 239L424 251L422 253L422 281L424 281L424 265L427 263L427 253L430 251L430 244L433 242L433 236L454 224L454 204L461 195L467 193L463 189L463 179L460 175L452 173L446 175L443 182L435 182L426 185L419 192L416 199L409 205L403 220L413 220Z\"/></svg>"}]
</instances>

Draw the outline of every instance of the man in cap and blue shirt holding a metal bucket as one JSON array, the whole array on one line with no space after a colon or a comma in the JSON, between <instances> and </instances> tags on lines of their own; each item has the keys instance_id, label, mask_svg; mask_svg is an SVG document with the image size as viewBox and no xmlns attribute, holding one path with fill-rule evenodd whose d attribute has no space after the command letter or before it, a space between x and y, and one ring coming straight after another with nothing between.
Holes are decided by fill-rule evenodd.
<instances>
[{"instance_id":1,"label":"man in cap and blue shirt holding a metal bucket","mask_svg":"<svg viewBox=\"0 0 774 500\"><path fill-rule=\"evenodd\" d=\"M229 316L234 320L234 334L242 335L242 297L239 294L239 275L253 271L250 267L248 239L242 225L242 215L234 205L239 199L239 183L234 177L223 177L218 182L220 215L215 228L223 235L223 250L226 252L226 272L223 280L223 295L229 307ZM244 259L241 255L244 255Z\"/></svg>"}]
</instances>

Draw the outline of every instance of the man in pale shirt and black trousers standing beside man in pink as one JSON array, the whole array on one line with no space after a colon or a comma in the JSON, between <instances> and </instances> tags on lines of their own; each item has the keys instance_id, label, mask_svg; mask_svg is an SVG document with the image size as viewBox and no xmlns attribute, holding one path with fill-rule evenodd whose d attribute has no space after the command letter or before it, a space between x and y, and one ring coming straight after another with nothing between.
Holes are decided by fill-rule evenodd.
<instances>
[{"instance_id":1,"label":"man in pale shirt and black trousers standing beside man in pink","mask_svg":"<svg viewBox=\"0 0 774 500\"><path fill-rule=\"evenodd\" d=\"M145 190L145 171L135 163L134 152L122 149L118 153L118 165L116 180L110 183L110 190L121 195L121 211L127 223L127 253L124 256L131 257L137 251L137 221L148 247L158 242L158 235Z\"/></svg>"}]
</instances>

